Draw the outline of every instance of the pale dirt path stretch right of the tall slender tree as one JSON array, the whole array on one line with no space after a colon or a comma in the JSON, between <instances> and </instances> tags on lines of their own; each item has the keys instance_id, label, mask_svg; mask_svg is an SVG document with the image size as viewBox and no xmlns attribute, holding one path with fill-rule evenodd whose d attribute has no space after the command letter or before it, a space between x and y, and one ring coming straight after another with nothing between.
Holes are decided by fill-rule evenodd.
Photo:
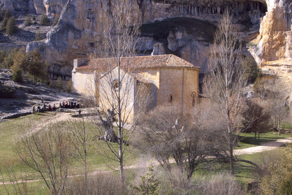
<instances>
[{"instance_id":1,"label":"pale dirt path stretch right of the tall slender tree","mask_svg":"<svg viewBox=\"0 0 292 195\"><path fill-rule=\"evenodd\" d=\"M237 155L240 155L240 154L253 154L253 153L263 152L267 150L274 150L280 146L283 146L285 143L292 143L292 138L284 138L284 139L278 139L277 141L264 142L264 143L261 143L260 146L234 150L234 153Z\"/></svg>"}]
</instances>

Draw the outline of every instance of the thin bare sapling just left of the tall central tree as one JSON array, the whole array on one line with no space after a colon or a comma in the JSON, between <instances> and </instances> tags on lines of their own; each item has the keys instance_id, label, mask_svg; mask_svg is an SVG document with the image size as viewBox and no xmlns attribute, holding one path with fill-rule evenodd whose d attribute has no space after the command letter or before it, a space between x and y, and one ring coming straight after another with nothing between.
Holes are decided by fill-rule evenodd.
<instances>
[{"instance_id":1,"label":"thin bare sapling just left of the tall central tree","mask_svg":"<svg viewBox=\"0 0 292 195\"><path fill-rule=\"evenodd\" d=\"M88 124L84 121L84 118L81 120L69 120L66 125L67 131L70 132L69 138L71 145L76 151L74 157L79 163L84 165L84 189L85 194L87 194L87 165L96 155L96 150L93 148L96 140L96 133L93 131L94 128L92 124Z\"/></svg>"}]
</instances>

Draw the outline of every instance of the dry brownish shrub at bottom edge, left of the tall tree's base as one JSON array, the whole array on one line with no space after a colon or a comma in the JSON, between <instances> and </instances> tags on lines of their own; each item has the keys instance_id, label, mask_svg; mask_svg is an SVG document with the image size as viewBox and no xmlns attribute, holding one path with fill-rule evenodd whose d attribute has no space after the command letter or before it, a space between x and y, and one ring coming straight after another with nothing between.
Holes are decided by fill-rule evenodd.
<instances>
[{"instance_id":1,"label":"dry brownish shrub at bottom edge, left of the tall tree's base","mask_svg":"<svg viewBox=\"0 0 292 195\"><path fill-rule=\"evenodd\" d=\"M121 185L119 176L115 176L112 173L88 175L87 182L85 181L84 177L76 177L73 179L71 187L67 188L65 191L65 194L67 195L118 195L123 193L124 188Z\"/></svg>"}]
</instances>

